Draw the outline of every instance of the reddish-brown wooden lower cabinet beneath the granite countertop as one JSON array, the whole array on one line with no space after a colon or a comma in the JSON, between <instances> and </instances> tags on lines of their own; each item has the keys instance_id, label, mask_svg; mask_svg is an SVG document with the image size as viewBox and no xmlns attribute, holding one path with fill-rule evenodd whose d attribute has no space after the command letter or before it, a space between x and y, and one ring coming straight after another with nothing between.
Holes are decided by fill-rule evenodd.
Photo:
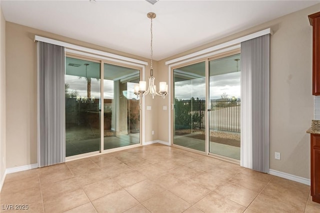
<instances>
[{"instance_id":1,"label":"reddish-brown wooden lower cabinet beneath the granite countertop","mask_svg":"<svg viewBox=\"0 0 320 213\"><path fill-rule=\"evenodd\" d=\"M311 134L311 196L320 203L320 135Z\"/></svg>"}]
</instances>

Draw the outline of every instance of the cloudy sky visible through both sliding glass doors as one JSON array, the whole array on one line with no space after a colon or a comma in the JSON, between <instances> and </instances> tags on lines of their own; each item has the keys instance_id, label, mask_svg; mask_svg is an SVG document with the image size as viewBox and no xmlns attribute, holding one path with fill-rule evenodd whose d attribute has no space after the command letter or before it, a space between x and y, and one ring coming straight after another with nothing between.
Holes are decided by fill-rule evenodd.
<instances>
[{"instance_id":1,"label":"cloudy sky visible through both sliding glass doors","mask_svg":"<svg viewBox=\"0 0 320 213\"><path fill-rule=\"evenodd\" d=\"M113 81L103 80L103 98L113 99ZM65 75L65 83L69 84L69 91L76 90L80 97L87 96L86 79L73 75ZM219 99L223 93L229 98L240 98L240 72L232 72L222 75L210 76L209 99ZM128 82L127 91L123 93L128 99L136 99L133 94L135 83ZM205 78L178 81L174 84L174 94L178 99L190 99L191 97L205 99ZM91 98L100 97L100 80L91 79Z\"/></svg>"}]
</instances>

